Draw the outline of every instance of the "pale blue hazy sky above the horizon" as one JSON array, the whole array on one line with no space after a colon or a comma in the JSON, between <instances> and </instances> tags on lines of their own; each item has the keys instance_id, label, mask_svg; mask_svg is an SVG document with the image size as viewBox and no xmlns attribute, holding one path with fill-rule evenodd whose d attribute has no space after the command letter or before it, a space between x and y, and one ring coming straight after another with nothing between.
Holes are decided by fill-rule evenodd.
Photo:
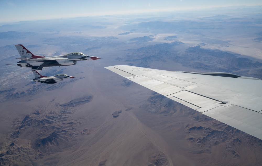
<instances>
[{"instance_id":1,"label":"pale blue hazy sky above the horizon","mask_svg":"<svg viewBox=\"0 0 262 166\"><path fill-rule=\"evenodd\" d=\"M0 0L0 22L256 6L261 0Z\"/></svg>"}]
</instances>

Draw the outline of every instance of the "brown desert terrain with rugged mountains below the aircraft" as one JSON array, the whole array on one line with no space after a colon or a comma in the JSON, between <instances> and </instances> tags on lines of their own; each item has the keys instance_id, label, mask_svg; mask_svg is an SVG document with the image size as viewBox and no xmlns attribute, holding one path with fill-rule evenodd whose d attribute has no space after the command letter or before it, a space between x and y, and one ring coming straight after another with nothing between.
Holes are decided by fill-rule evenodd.
<instances>
[{"instance_id":1,"label":"brown desert terrain with rugged mountains below the aircraft","mask_svg":"<svg viewBox=\"0 0 262 166\"><path fill-rule=\"evenodd\" d=\"M0 165L261 165L262 141L105 69L133 65L262 79L260 8L0 24ZM30 82L35 55L97 56Z\"/></svg>"}]
</instances>

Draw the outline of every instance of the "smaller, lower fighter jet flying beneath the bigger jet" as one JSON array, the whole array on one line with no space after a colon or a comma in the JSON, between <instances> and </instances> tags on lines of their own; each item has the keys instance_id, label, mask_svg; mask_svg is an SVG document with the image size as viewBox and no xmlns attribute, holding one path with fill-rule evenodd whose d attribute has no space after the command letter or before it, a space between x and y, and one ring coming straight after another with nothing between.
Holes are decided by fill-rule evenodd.
<instances>
[{"instance_id":1,"label":"smaller, lower fighter jet flying beneath the bigger jet","mask_svg":"<svg viewBox=\"0 0 262 166\"><path fill-rule=\"evenodd\" d=\"M51 77L47 77L47 76L42 76L41 74L39 74L37 71L32 70L33 74L35 75L35 79L31 80L31 81L35 81L35 82L41 82L41 83L45 83L45 84L55 84L56 81L63 81L64 78L75 78L72 76L68 76L66 74L57 74Z\"/></svg>"}]
</instances>

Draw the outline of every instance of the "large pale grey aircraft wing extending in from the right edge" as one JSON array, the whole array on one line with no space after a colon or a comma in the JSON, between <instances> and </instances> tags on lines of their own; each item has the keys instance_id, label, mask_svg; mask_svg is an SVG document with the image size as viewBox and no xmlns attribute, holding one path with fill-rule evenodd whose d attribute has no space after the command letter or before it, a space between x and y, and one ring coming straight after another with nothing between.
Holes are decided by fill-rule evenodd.
<instances>
[{"instance_id":1,"label":"large pale grey aircraft wing extending in from the right edge","mask_svg":"<svg viewBox=\"0 0 262 166\"><path fill-rule=\"evenodd\" d=\"M209 117L262 139L262 81L230 73L105 67Z\"/></svg>"}]
</instances>

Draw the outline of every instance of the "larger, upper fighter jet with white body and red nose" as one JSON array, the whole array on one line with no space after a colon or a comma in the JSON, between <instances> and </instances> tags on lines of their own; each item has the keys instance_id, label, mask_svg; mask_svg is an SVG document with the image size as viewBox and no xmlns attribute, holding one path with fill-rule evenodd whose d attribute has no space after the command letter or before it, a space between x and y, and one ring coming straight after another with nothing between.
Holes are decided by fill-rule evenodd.
<instances>
[{"instance_id":1,"label":"larger, upper fighter jet with white body and red nose","mask_svg":"<svg viewBox=\"0 0 262 166\"><path fill-rule=\"evenodd\" d=\"M77 61L82 60L96 60L101 59L95 56L85 55L80 52L72 52L65 55L45 57L36 56L32 54L28 49L26 49L22 44L15 45L21 58L21 61L15 63L20 67L31 67L32 70L42 70L43 67L50 66L69 66L77 64ZM8 64L11 65L11 64Z\"/></svg>"}]
</instances>

